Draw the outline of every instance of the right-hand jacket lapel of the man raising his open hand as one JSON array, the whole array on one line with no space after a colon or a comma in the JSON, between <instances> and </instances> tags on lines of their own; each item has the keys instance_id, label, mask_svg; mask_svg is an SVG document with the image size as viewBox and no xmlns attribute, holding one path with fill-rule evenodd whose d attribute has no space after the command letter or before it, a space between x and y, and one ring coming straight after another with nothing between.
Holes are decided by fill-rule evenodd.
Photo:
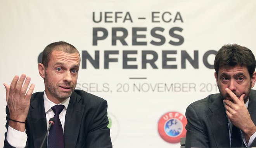
<instances>
[{"instance_id":1,"label":"right-hand jacket lapel of the man raising his open hand","mask_svg":"<svg viewBox=\"0 0 256 148\"><path fill-rule=\"evenodd\" d=\"M85 105L79 103L81 96L76 92L70 97L67 113L65 117L64 127L64 146L65 148L75 148L78 134L81 126L81 119L85 109Z\"/></svg>"}]
</instances>

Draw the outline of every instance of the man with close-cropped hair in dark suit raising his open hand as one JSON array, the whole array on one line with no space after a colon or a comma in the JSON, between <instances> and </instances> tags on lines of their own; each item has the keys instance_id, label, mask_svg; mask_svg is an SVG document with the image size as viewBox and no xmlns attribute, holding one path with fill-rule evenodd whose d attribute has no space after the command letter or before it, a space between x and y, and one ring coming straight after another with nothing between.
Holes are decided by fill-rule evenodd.
<instances>
[{"instance_id":1,"label":"man with close-cropped hair in dark suit raising his open hand","mask_svg":"<svg viewBox=\"0 0 256 148\"><path fill-rule=\"evenodd\" d=\"M55 42L44 49L42 63L38 64L45 83L44 92L32 94L35 85L31 84L28 89L30 77L25 74L20 78L15 76L10 86L4 83L7 100L4 147L40 147L49 127L48 120L55 117L54 107L62 106L63 110L58 113L62 135L53 136L54 140L48 138L44 148L52 146L49 141L57 146L63 143L65 148L112 148L107 102L75 90L79 67L78 50L69 43ZM61 142L56 142L59 139L55 138L61 136Z\"/></svg>"}]
</instances>

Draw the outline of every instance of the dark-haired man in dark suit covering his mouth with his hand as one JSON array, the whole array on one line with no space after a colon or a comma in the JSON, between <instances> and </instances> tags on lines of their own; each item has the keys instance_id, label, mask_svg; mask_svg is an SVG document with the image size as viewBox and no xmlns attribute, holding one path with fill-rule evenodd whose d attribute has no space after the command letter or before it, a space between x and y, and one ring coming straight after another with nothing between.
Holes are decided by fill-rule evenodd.
<instances>
[{"instance_id":1,"label":"dark-haired man in dark suit covering his mouth with his hand","mask_svg":"<svg viewBox=\"0 0 256 148\"><path fill-rule=\"evenodd\" d=\"M255 57L248 48L221 47L214 60L220 93L187 107L186 148L256 146L256 90L251 89L256 82L255 66Z\"/></svg>"}]
</instances>

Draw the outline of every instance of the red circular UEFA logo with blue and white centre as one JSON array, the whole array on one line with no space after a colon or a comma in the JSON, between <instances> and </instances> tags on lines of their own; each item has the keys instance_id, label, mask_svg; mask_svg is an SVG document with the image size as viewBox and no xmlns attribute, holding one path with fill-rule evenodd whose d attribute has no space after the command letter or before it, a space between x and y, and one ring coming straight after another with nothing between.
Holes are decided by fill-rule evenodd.
<instances>
[{"instance_id":1,"label":"red circular UEFA logo with blue and white centre","mask_svg":"<svg viewBox=\"0 0 256 148\"><path fill-rule=\"evenodd\" d=\"M158 133L168 143L178 143L186 136L187 118L178 112L168 112L158 121Z\"/></svg>"}]
</instances>

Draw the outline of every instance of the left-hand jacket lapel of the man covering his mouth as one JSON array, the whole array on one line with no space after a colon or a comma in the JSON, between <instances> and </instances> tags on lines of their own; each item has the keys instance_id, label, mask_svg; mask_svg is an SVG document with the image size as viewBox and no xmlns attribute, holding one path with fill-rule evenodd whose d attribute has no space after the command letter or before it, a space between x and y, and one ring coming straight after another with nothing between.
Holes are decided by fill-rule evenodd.
<instances>
[{"instance_id":1,"label":"left-hand jacket lapel of the man covering his mouth","mask_svg":"<svg viewBox=\"0 0 256 148\"><path fill-rule=\"evenodd\" d=\"M213 138L216 141L216 146L229 147L228 120L222 98L220 96L211 98L209 109L212 113L207 115L207 119L213 133Z\"/></svg>"}]
</instances>

